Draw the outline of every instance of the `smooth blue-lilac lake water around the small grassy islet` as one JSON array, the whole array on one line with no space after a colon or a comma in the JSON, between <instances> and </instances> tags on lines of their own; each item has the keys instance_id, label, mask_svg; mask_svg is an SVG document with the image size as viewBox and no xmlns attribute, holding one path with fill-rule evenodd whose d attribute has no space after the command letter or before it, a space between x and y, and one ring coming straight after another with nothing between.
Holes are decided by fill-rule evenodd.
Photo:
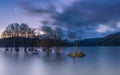
<instances>
[{"instance_id":1,"label":"smooth blue-lilac lake water around the small grassy islet","mask_svg":"<svg viewBox=\"0 0 120 75\"><path fill-rule=\"evenodd\" d=\"M120 47L79 47L84 58L66 56L71 49L62 51L61 56L45 56L1 48L0 75L120 75Z\"/></svg>"}]
</instances>

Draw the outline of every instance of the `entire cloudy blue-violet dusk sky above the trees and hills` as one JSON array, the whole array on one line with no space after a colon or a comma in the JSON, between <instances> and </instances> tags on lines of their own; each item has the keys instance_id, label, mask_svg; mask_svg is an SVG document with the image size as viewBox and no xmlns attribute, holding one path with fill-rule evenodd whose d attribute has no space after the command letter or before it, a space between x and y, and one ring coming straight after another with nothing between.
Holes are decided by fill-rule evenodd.
<instances>
[{"instance_id":1,"label":"entire cloudy blue-violet dusk sky above the trees and hills","mask_svg":"<svg viewBox=\"0 0 120 75\"><path fill-rule=\"evenodd\" d=\"M40 28L43 22L83 38L120 32L120 0L0 0L0 34L11 23Z\"/></svg>"}]
</instances>

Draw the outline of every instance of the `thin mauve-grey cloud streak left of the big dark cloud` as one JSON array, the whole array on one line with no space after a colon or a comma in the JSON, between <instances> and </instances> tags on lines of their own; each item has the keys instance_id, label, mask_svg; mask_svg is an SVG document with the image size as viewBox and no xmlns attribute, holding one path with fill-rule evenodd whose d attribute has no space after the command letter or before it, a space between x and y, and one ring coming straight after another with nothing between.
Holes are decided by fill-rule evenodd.
<instances>
[{"instance_id":1,"label":"thin mauve-grey cloud streak left of the big dark cloud","mask_svg":"<svg viewBox=\"0 0 120 75\"><path fill-rule=\"evenodd\" d=\"M45 7L35 7L32 2L24 1L21 6L31 14L54 14L55 8L52 4L48 4Z\"/></svg>"}]
</instances>

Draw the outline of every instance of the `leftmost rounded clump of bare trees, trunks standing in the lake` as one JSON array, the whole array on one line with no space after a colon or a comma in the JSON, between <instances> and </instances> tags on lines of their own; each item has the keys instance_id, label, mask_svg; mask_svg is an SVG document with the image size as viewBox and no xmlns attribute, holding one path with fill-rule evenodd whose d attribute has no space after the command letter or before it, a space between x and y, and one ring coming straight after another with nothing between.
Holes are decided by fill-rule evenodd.
<instances>
[{"instance_id":1,"label":"leftmost rounded clump of bare trees, trunks standing in the lake","mask_svg":"<svg viewBox=\"0 0 120 75\"><path fill-rule=\"evenodd\" d=\"M25 51L28 45L27 43L28 38L31 38L33 36L34 30L24 23L10 24L6 27L5 31L2 33L2 38L9 39L9 41L8 40L6 41L6 44L8 44L8 46L15 47L15 50L18 50L18 47L21 46L21 44L19 43L23 42L22 46L24 46Z\"/></svg>"}]
</instances>

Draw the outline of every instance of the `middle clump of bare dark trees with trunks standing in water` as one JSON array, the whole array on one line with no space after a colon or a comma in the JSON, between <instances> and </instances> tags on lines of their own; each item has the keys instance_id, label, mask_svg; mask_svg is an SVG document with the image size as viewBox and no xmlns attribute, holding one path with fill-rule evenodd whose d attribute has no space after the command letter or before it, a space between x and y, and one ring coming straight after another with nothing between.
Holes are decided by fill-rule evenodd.
<instances>
[{"instance_id":1,"label":"middle clump of bare dark trees with trunks standing in water","mask_svg":"<svg viewBox=\"0 0 120 75\"><path fill-rule=\"evenodd\" d=\"M43 44L47 46L48 52L50 52L49 48L51 49L52 46L55 46L56 54L59 55L61 49L61 41L64 37L63 30L60 27L52 28L50 26L43 26L42 31L45 33Z\"/></svg>"}]
</instances>

